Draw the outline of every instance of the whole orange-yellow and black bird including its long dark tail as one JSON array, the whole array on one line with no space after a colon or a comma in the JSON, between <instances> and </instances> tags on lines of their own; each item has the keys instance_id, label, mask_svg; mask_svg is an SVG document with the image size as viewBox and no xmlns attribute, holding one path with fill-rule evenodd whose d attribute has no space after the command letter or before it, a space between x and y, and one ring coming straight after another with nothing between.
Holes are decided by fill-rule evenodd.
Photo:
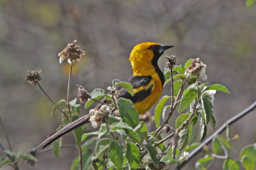
<instances>
[{"instance_id":1,"label":"whole orange-yellow and black bird including its long dark tail","mask_svg":"<svg viewBox=\"0 0 256 170\"><path fill-rule=\"evenodd\" d=\"M159 99L163 91L164 74L159 68L157 61L163 54L164 50L172 48L171 45L160 45L159 43L140 43L132 49L130 54L130 62L132 65L132 76L127 82L131 83L134 88L134 96L131 96L124 88L118 89L118 97L130 99L141 115L149 110ZM96 106L99 108L100 104ZM90 115L85 115L78 120L68 124L67 126L55 132L38 148L44 148L53 141L60 138L64 134L76 129L77 127L90 122Z\"/></svg>"}]
</instances>

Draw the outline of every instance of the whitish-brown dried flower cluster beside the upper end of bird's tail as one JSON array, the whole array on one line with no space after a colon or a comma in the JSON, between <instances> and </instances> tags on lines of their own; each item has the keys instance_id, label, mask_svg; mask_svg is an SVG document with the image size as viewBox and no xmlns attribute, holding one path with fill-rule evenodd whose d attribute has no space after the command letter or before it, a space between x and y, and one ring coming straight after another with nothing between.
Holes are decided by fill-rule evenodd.
<instances>
[{"instance_id":1,"label":"whitish-brown dried flower cluster beside the upper end of bird's tail","mask_svg":"<svg viewBox=\"0 0 256 170\"><path fill-rule=\"evenodd\" d=\"M106 117L111 112L111 110L106 105L102 105L99 110L92 109L89 111L92 116L90 117L90 122L92 123L92 127L96 128L100 124L106 122Z\"/></svg>"}]
</instances>

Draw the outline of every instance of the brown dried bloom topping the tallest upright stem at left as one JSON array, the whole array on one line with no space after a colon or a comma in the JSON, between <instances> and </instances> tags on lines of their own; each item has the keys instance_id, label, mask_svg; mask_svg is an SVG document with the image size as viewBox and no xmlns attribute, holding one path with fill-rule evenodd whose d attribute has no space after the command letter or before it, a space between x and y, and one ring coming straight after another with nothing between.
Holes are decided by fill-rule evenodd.
<instances>
[{"instance_id":1,"label":"brown dried bloom topping the tallest upright stem at left","mask_svg":"<svg viewBox=\"0 0 256 170\"><path fill-rule=\"evenodd\" d=\"M82 58L82 55L84 55L85 52L79 49L79 45L76 45L76 43L76 40L74 40L73 43L68 43L67 47L58 54L60 56L60 64L65 59L71 64L74 60L79 61Z\"/></svg>"}]
</instances>

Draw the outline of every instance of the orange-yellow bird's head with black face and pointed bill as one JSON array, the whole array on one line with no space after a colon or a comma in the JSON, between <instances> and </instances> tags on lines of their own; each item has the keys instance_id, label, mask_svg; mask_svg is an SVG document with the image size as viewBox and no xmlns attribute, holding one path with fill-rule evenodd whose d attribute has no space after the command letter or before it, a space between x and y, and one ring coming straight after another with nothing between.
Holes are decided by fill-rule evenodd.
<instances>
[{"instance_id":1,"label":"orange-yellow bird's head with black face and pointed bill","mask_svg":"<svg viewBox=\"0 0 256 170\"><path fill-rule=\"evenodd\" d=\"M149 64L158 67L159 57L164 53L164 50L172 47L172 45L161 45L153 42L140 43L132 49L129 60L133 69L143 65L149 66Z\"/></svg>"}]
</instances>

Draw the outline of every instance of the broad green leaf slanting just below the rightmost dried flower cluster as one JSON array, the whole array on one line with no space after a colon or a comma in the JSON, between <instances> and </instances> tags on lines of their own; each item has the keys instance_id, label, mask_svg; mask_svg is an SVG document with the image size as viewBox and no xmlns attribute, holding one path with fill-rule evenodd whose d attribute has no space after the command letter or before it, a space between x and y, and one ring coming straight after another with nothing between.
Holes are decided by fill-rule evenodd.
<instances>
[{"instance_id":1,"label":"broad green leaf slanting just below the rightmost dried flower cluster","mask_svg":"<svg viewBox=\"0 0 256 170\"><path fill-rule=\"evenodd\" d=\"M190 85L188 89L186 89L183 94L180 101L179 106L179 113L182 113L182 111L186 110L188 106L191 104L191 102L196 99L198 96L198 90L195 84Z\"/></svg>"}]
</instances>

